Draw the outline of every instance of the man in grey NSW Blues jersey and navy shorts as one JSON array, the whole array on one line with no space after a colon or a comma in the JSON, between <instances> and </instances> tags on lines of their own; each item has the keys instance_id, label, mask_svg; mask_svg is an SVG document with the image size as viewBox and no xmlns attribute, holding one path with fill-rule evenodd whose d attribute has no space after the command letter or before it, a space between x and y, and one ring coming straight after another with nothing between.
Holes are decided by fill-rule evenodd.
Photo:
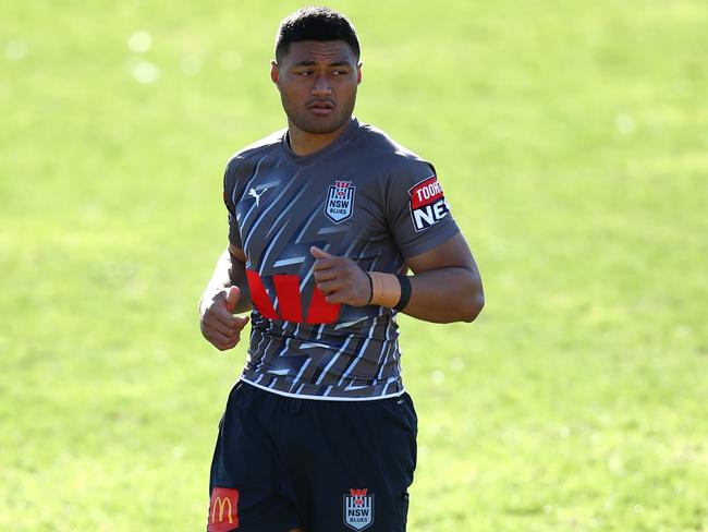
<instances>
[{"instance_id":1,"label":"man in grey NSW Blues jersey and navy shorts","mask_svg":"<svg viewBox=\"0 0 708 532\"><path fill-rule=\"evenodd\" d=\"M479 274L432 165L352 117L362 63L343 15L285 19L271 78L288 129L229 161L229 249L199 305L220 350L253 310L208 530L404 531L417 420L395 314L472 322Z\"/></svg>"}]
</instances>

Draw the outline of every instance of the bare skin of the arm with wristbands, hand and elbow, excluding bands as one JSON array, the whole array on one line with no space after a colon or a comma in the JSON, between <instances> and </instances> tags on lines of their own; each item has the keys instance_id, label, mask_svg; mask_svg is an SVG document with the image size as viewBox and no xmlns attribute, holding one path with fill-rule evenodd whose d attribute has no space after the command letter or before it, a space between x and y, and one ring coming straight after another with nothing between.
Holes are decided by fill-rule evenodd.
<instances>
[{"instance_id":1,"label":"bare skin of the arm with wristbands, hand and elbow, excluding bands","mask_svg":"<svg viewBox=\"0 0 708 532\"><path fill-rule=\"evenodd\" d=\"M353 306L369 303L368 276L354 261L317 247L312 253L317 258L315 280L328 302ZM407 265L414 275L410 277L411 300L403 313L426 322L450 323L472 322L481 312L485 300L479 270L461 233L412 257Z\"/></svg>"}]
</instances>

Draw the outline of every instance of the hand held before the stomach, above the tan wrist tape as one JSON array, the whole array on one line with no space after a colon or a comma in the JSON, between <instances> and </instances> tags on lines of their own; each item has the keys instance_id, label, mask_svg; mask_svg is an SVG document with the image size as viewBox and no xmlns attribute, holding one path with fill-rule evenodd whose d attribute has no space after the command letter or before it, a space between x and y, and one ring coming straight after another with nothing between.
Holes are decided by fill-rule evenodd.
<instances>
[{"instance_id":1,"label":"hand held before the stomach, above the tan wrist tape","mask_svg":"<svg viewBox=\"0 0 708 532\"><path fill-rule=\"evenodd\" d=\"M344 303L351 306L366 306L371 295L368 275L346 257L338 257L312 246L316 258L313 267L317 288L328 303Z\"/></svg>"}]
</instances>

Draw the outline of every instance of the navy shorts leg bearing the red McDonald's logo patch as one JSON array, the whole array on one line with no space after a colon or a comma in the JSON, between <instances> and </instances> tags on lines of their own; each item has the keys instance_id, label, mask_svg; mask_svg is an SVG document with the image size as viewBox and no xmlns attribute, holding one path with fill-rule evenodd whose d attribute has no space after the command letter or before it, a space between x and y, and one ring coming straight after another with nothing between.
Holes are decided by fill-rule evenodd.
<instances>
[{"instance_id":1,"label":"navy shorts leg bearing the red McDonald's logo patch","mask_svg":"<svg viewBox=\"0 0 708 532\"><path fill-rule=\"evenodd\" d=\"M300 525L283 493L272 434L278 418L267 400L237 383L219 424L209 480L209 532L286 532Z\"/></svg>"}]
</instances>

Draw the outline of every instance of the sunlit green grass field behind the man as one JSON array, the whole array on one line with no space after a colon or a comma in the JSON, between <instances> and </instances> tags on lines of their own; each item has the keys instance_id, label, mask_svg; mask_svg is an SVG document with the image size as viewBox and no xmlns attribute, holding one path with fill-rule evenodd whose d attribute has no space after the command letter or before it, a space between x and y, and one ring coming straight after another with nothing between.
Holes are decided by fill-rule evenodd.
<instances>
[{"instance_id":1,"label":"sunlit green grass field behind the man","mask_svg":"<svg viewBox=\"0 0 708 532\"><path fill-rule=\"evenodd\" d=\"M0 530L204 530L245 351L196 304L301 4L265 5L0 5ZM708 531L708 3L332 5L485 282L402 321L408 530Z\"/></svg>"}]
</instances>

